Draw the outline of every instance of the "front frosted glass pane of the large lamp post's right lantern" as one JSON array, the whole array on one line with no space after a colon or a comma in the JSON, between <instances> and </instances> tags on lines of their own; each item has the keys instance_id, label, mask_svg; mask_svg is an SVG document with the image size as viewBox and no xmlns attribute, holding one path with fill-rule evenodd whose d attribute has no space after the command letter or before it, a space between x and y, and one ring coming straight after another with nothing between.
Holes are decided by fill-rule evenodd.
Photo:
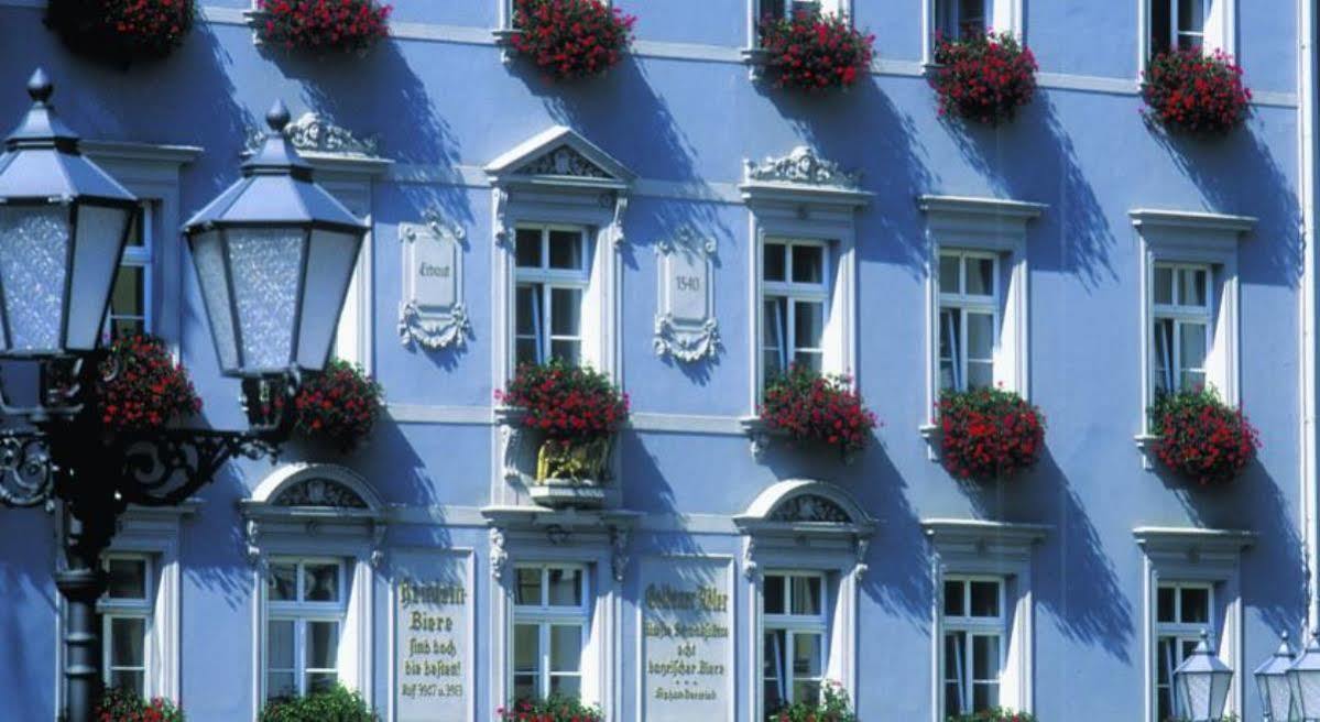
<instances>
[{"instance_id":1,"label":"front frosted glass pane of the large lamp post's right lantern","mask_svg":"<svg viewBox=\"0 0 1320 722\"><path fill-rule=\"evenodd\" d=\"M302 234L285 228L228 231L244 371L277 371L293 360L293 323Z\"/></svg>"}]
</instances>

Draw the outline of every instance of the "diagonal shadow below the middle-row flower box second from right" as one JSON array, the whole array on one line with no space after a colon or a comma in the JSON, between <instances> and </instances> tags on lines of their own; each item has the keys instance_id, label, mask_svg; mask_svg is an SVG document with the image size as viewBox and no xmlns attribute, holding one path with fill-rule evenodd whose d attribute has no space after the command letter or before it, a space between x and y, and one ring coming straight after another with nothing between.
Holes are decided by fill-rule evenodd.
<instances>
[{"instance_id":1,"label":"diagonal shadow below the middle-row flower box second from right","mask_svg":"<svg viewBox=\"0 0 1320 722\"><path fill-rule=\"evenodd\" d=\"M999 482L960 482L982 519L1055 521L1036 546L1032 591L1069 639L1130 661L1137 631L1131 602L1081 499L1047 447L1036 467Z\"/></svg>"}]
</instances>

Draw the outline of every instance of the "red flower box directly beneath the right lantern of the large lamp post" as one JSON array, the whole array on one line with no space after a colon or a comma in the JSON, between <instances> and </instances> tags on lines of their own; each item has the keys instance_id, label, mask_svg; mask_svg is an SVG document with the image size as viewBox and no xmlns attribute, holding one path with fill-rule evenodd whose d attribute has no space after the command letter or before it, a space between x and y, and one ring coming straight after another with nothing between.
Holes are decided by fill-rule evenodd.
<instances>
[{"instance_id":1,"label":"red flower box directly beneath the right lantern of the large lamp post","mask_svg":"<svg viewBox=\"0 0 1320 722\"><path fill-rule=\"evenodd\" d=\"M380 417L384 392L360 366L334 359L310 374L293 397L293 428L347 451L362 442Z\"/></svg>"}]
</instances>

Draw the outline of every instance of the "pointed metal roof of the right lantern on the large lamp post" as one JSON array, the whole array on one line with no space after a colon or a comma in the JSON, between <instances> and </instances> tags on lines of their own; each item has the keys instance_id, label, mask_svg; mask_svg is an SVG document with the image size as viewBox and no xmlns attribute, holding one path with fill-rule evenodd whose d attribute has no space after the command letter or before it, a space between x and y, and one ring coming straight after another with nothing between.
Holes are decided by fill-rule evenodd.
<instances>
[{"instance_id":1,"label":"pointed metal roof of the right lantern on the large lamp post","mask_svg":"<svg viewBox=\"0 0 1320 722\"><path fill-rule=\"evenodd\" d=\"M276 102L265 116L269 132L243 164L243 177L224 189L185 226L312 226L366 231L367 224L312 180L312 166L284 133L289 110Z\"/></svg>"}]
</instances>

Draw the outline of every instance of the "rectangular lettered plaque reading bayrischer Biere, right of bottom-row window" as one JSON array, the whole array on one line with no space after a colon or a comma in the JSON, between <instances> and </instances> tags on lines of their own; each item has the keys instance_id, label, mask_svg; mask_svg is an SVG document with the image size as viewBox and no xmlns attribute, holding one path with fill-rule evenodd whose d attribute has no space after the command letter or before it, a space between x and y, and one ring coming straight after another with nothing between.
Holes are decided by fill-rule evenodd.
<instances>
[{"instance_id":1,"label":"rectangular lettered plaque reading bayrischer Biere, right of bottom-row window","mask_svg":"<svg viewBox=\"0 0 1320 722\"><path fill-rule=\"evenodd\" d=\"M642 719L733 719L731 560L652 557L642 564Z\"/></svg>"}]
</instances>

